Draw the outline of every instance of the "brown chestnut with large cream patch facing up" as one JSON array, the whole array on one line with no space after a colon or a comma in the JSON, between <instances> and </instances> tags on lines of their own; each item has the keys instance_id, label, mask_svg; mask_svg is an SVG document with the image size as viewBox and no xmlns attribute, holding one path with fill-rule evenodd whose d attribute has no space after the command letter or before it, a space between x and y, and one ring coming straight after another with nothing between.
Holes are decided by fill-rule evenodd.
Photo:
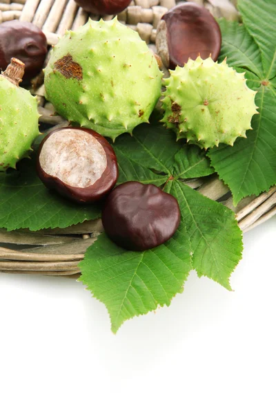
<instances>
[{"instance_id":1,"label":"brown chestnut with large cream patch facing up","mask_svg":"<svg viewBox=\"0 0 276 415\"><path fill-rule=\"evenodd\" d=\"M115 186L117 158L106 138L96 131L59 128L41 141L37 174L49 189L78 203L92 203Z\"/></svg>"}]
</instances>

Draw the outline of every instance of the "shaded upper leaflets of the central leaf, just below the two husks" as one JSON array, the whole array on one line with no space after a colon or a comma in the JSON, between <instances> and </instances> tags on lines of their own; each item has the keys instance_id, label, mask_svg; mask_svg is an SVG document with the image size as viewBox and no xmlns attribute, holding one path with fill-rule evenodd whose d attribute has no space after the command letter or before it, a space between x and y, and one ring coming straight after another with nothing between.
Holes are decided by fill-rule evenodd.
<instances>
[{"instance_id":1,"label":"shaded upper leaflets of the central leaf, just below the two husks","mask_svg":"<svg viewBox=\"0 0 276 415\"><path fill-rule=\"evenodd\" d=\"M170 176L195 178L214 172L204 150L177 142L175 133L161 125L141 124L133 137L124 134L113 147L119 163L118 183L138 180L161 185Z\"/></svg>"}]
</instances>

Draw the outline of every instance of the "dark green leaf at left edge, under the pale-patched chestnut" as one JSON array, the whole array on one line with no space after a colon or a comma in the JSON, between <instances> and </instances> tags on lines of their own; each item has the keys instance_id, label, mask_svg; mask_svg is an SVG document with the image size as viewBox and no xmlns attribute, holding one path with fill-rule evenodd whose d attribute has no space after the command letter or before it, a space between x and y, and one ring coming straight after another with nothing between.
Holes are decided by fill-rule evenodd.
<instances>
[{"instance_id":1,"label":"dark green leaf at left edge, under the pale-patched chestnut","mask_svg":"<svg viewBox=\"0 0 276 415\"><path fill-rule=\"evenodd\" d=\"M49 192L35 172L34 161L24 159L17 171L0 174L0 228L67 228L100 216L97 205L82 206Z\"/></svg>"}]
</instances>

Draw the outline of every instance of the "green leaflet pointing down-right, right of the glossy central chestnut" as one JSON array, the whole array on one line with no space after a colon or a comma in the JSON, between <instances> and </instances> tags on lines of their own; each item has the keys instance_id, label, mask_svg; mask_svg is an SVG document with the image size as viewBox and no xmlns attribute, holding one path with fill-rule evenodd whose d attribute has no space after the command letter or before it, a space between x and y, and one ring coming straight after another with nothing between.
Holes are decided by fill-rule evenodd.
<instances>
[{"instance_id":1,"label":"green leaflet pointing down-right, right of the glossy central chestnut","mask_svg":"<svg viewBox=\"0 0 276 415\"><path fill-rule=\"evenodd\" d=\"M170 193L177 198L193 251L193 266L231 290L229 277L242 259L242 231L233 212L180 181Z\"/></svg>"}]
</instances>

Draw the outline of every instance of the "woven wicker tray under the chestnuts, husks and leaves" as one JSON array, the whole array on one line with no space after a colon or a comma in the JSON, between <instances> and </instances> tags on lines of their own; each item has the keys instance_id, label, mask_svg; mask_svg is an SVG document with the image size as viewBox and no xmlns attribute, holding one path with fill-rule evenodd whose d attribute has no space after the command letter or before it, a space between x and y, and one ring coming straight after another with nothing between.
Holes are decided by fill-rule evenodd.
<instances>
[{"instance_id":1,"label":"woven wicker tray under the chestnuts, husks and leaves","mask_svg":"<svg viewBox=\"0 0 276 415\"><path fill-rule=\"evenodd\" d=\"M66 29L75 30L86 23L88 17L99 19L99 16L88 15L77 6L74 0L4 0L0 2L0 23L2 21L20 19L32 21L46 34L48 44L57 43L58 37ZM239 19L235 9L235 0L193 0L206 6L215 17ZM175 6L175 0L135 0L124 12L118 15L119 21L137 30L150 48L155 50L156 28L161 16ZM103 19L109 20L113 16ZM37 85L39 85L39 80ZM40 84L34 93L39 98L41 122L63 126L66 120L56 116L50 102L44 98L44 87ZM219 181L217 176L191 180L188 183L198 192L210 199L224 203L236 213L240 228L248 230L260 225L276 214L276 187L258 197L243 199L237 207L229 189ZM66 229L41 230L30 232L20 230L7 232L0 229L0 272L28 273L53 276L79 276L78 264L99 232L102 231L101 220L86 221L72 225ZM12 249L5 248L12 246Z\"/></svg>"}]
</instances>

